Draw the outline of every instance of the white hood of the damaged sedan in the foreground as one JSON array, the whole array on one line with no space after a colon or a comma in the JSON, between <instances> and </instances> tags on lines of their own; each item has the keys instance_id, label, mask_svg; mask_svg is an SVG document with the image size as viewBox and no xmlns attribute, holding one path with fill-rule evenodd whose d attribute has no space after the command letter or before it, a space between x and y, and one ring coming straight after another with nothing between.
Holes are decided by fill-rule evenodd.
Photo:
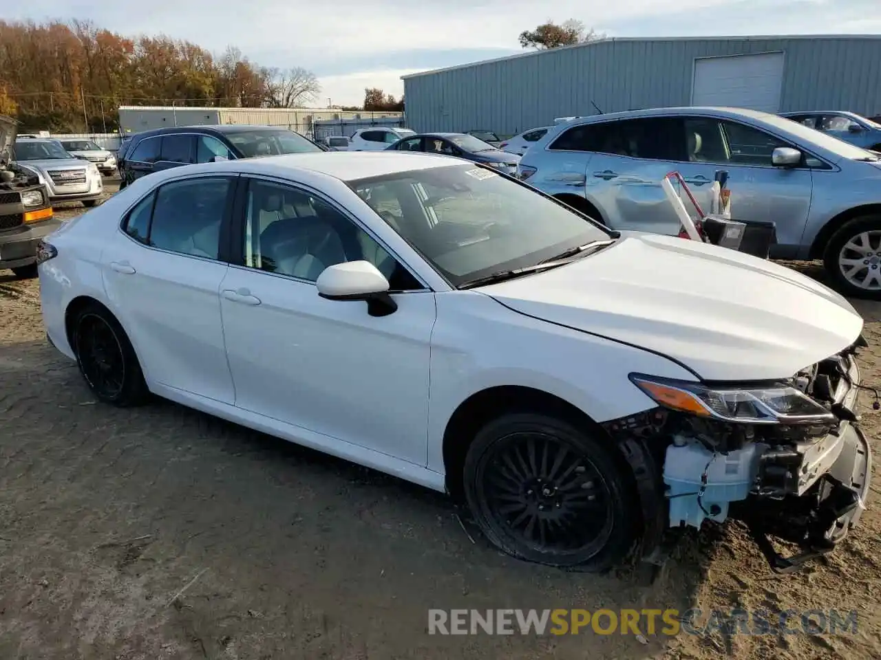
<instances>
[{"instance_id":1,"label":"white hood of the damaged sedan in the foreground","mask_svg":"<svg viewBox=\"0 0 881 660\"><path fill-rule=\"evenodd\" d=\"M478 290L516 312L669 356L704 380L789 378L862 332L847 300L796 271L656 234L622 232L596 254Z\"/></svg>"}]
</instances>

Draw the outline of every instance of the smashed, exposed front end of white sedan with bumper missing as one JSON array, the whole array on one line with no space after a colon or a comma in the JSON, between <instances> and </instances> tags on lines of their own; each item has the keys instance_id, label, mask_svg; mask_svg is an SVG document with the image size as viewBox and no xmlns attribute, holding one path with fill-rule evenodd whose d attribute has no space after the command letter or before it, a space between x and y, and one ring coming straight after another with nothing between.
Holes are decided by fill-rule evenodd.
<instances>
[{"instance_id":1,"label":"smashed, exposed front end of white sedan with bumper missing","mask_svg":"<svg viewBox=\"0 0 881 660\"><path fill-rule=\"evenodd\" d=\"M664 528L732 517L748 525L775 571L788 572L844 539L870 489L871 452L856 414L859 389L871 389L861 385L855 360L862 346L860 337L782 383L699 389L634 378L661 405L604 426L622 446L640 446L654 466L643 471L654 483L640 493L644 550L661 543ZM770 537L801 551L783 557Z\"/></svg>"}]
</instances>

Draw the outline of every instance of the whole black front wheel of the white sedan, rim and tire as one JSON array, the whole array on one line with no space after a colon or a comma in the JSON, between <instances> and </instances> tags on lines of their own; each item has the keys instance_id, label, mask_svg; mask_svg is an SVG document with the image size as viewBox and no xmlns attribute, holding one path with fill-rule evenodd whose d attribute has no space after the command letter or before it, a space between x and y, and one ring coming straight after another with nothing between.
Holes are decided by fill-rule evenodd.
<instances>
[{"instance_id":1,"label":"whole black front wheel of the white sedan, rim and tire","mask_svg":"<svg viewBox=\"0 0 881 660\"><path fill-rule=\"evenodd\" d=\"M505 414L470 445L465 499L493 546L518 559L603 571L640 519L626 474L595 436L544 414Z\"/></svg>"}]
</instances>

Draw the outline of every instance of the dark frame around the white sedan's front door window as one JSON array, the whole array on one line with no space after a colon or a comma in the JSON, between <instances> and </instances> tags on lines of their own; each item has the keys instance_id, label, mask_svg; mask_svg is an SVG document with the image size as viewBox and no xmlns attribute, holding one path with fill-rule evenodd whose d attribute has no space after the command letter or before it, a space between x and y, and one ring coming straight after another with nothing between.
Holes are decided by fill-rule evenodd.
<instances>
[{"instance_id":1,"label":"dark frame around the white sedan's front door window","mask_svg":"<svg viewBox=\"0 0 881 660\"><path fill-rule=\"evenodd\" d=\"M307 280L302 277L297 277L296 275L287 275L285 273L271 273L268 270L260 270L258 268L251 268L245 265L245 244L244 244L244 234L245 234L245 223L248 222L248 218L246 217L247 209L248 209L248 188L250 187L251 181L262 181L264 183L274 184L276 186L288 187L292 190L300 193L308 194L312 197L316 197L320 199L322 202L328 204L332 209L337 210L346 220L354 224L359 230L364 231L367 236L373 238L376 241L376 244L380 246L389 256L396 260L398 264L400 264L403 268L410 273L416 282L422 285L422 289L408 289L408 290L389 290L391 294L403 294L403 293L425 293L427 291L434 292L431 286L429 286L425 279L418 275L415 270L408 264L405 260L401 259L398 254L392 250L389 246L386 245L385 241L383 241L380 237L376 235L376 233L371 230L369 227L366 227L358 217L354 216L348 209L345 209L338 202L330 199L327 194L322 193L322 191L315 189L305 183L300 181L292 181L287 179L282 179L278 177L271 176L270 174L242 174L239 178L239 186L236 190L236 198L233 204L231 205L233 209L233 215L230 218L229 223L229 260L227 263L233 268L241 268L242 270L246 270L249 273L261 273L263 275L271 275L273 277L281 277L285 280L292 280L293 282L302 282L304 284L311 284L315 286L315 282L311 280Z\"/></svg>"}]
</instances>

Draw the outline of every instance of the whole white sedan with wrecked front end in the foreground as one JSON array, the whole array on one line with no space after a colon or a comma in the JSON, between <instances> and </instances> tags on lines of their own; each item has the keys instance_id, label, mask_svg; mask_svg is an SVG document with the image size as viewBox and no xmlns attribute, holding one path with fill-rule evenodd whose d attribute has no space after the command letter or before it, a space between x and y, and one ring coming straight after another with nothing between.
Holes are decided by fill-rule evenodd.
<instances>
[{"instance_id":1,"label":"whole white sedan with wrecked front end in the foreground","mask_svg":"<svg viewBox=\"0 0 881 660\"><path fill-rule=\"evenodd\" d=\"M788 570L865 508L847 301L741 253L608 231L484 165L174 168L39 260L48 339L98 399L152 392L446 490L525 560L656 561L670 532L737 517Z\"/></svg>"}]
</instances>

